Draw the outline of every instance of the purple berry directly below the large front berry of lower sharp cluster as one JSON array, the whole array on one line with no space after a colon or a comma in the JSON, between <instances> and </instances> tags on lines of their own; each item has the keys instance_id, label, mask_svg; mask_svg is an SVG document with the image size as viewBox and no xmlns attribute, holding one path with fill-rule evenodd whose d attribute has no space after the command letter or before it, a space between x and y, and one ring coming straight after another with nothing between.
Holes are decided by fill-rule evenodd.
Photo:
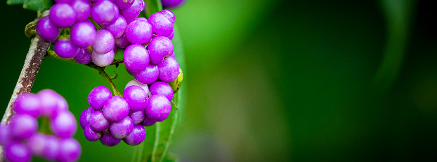
<instances>
[{"instance_id":1,"label":"purple berry directly below the large front berry of lower sharp cluster","mask_svg":"<svg viewBox=\"0 0 437 162\"><path fill-rule=\"evenodd\" d=\"M109 133L116 138L125 138L134 130L134 122L129 116L120 121L112 122L109 125Z\"/></svg>"}]
</instances>

